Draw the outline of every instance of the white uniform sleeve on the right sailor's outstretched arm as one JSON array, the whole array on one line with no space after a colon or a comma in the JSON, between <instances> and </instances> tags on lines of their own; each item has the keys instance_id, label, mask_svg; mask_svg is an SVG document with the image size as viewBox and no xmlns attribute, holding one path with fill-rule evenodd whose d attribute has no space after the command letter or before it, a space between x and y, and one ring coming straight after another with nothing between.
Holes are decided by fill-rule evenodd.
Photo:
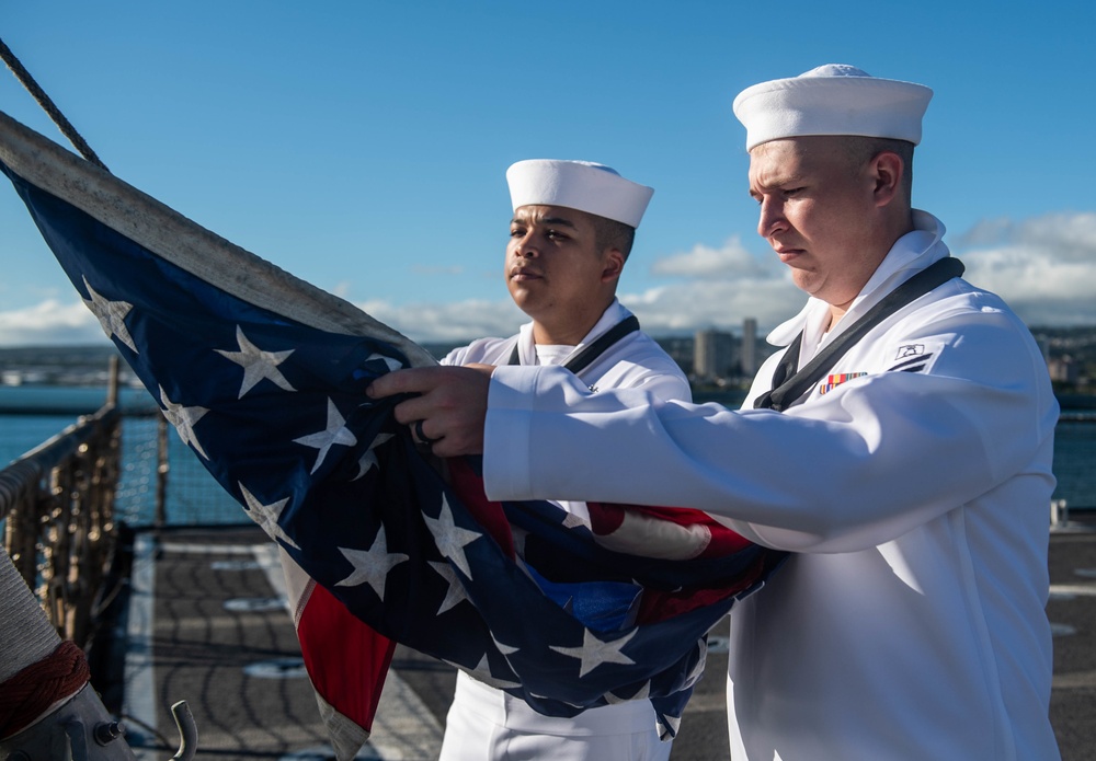
<instances>
[{"instance_id":1,"label":"white uniform sleeve on the right sailor's outstretched arm","mask_svg":"<svg viewBox=\"0 0 1096 761\"><path fill-rule=\"evenodd\" d=\"M1006 318L941 318L921 337L945 346L931 374L871 374L783 414L500 368L488 496L699 508L798 552L880 544L1021 472L1057 416L1037 399L1050 393L1041 360Z\"/></svg>"}]
</instances>

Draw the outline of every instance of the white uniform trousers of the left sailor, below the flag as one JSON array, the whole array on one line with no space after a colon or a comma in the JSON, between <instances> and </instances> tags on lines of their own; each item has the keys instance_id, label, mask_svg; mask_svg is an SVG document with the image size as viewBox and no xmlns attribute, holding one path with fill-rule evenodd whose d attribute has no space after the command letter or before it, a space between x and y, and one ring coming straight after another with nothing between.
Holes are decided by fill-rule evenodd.
<instances>
[{"instance_id":1,"label":"white uniform trousers of the left sailor, below the flag","mask_svg":"<svg viewBox=\"0 0 1096 761\"><path fill-rule=\"evenodd\" d=\"M667 761L672 745L648 701L556 718L460 671L439 761Z\"/></svg>"}]
</instances>

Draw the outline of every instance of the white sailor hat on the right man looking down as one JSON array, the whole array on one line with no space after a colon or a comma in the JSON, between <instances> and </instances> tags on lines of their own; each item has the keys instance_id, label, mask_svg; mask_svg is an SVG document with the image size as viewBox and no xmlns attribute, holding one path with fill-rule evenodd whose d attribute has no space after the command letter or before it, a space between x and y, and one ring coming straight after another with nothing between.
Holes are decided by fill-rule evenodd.
<instances>
[{"instance_id":1,"label":"white sailor hat on the right man looking down","mask_svg":"<svg viewBox=\"0 0 1096 761\"><path fill-rule=\"evenodd\" d=\"M790 79L746 88L734 115L746 128L746 150L804 135L860 135L921 142L921 119L933 91L879 79L844 64L826 64Z\"/></svg>"}]
</instances>

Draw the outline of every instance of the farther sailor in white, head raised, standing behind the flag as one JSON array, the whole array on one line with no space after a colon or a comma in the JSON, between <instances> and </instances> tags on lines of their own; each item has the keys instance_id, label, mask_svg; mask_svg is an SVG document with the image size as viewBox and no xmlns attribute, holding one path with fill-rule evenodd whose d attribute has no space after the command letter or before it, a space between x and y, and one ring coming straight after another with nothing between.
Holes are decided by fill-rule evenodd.
<instances>
[{"instance_id":1,"label":"farther sailor in white, head raised, standing behind the flag","mask_svg":"<svg viewBox=\"0 0 1096 761\"><path fill-rule=\"evenodd\" d=\"M506 246L511 296L533 321L509 338L454 349L443 365L563 366L583 388L643 389L690 399L677 364L616 300L635 228L653 191L576 161L521 161L506 172L514 217ZM429 428L424 434L429 433ZM585 503L561 503L589 522ZM460 671L446 718L442 761L664 760L648 701L543 716L521 699Z\"/></svg>"}]
</instances>

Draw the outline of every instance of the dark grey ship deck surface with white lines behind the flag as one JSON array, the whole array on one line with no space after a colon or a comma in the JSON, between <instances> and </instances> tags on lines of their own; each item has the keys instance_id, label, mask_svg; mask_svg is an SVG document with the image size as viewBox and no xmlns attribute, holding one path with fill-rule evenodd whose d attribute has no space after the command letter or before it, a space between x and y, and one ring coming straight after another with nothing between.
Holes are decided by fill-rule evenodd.
<instances>
[{"instance_id":1,"label":"dark grey ship deck surface with white lines behind the flag","mask_svg":"<svg viewBox=\"0 0 1096 761\"><path fill-rule=\"evenodd\" d=\"M1076 518L1076 516L1075 516ZM1096 516L1051 535L1055 630L1051 719L1062 758L1096 746ZM124 713L142 759L169 759L171 704L187 701L199 759L332 759L285 608L281 568L258 527L139 532L127 623ZM724 626L712 632L673 761L726 761ZM726 641L723 641L726 645ZM431 761L455 671L399 648L369 745L359 759Z\"/></svg>"}]
</instances>

